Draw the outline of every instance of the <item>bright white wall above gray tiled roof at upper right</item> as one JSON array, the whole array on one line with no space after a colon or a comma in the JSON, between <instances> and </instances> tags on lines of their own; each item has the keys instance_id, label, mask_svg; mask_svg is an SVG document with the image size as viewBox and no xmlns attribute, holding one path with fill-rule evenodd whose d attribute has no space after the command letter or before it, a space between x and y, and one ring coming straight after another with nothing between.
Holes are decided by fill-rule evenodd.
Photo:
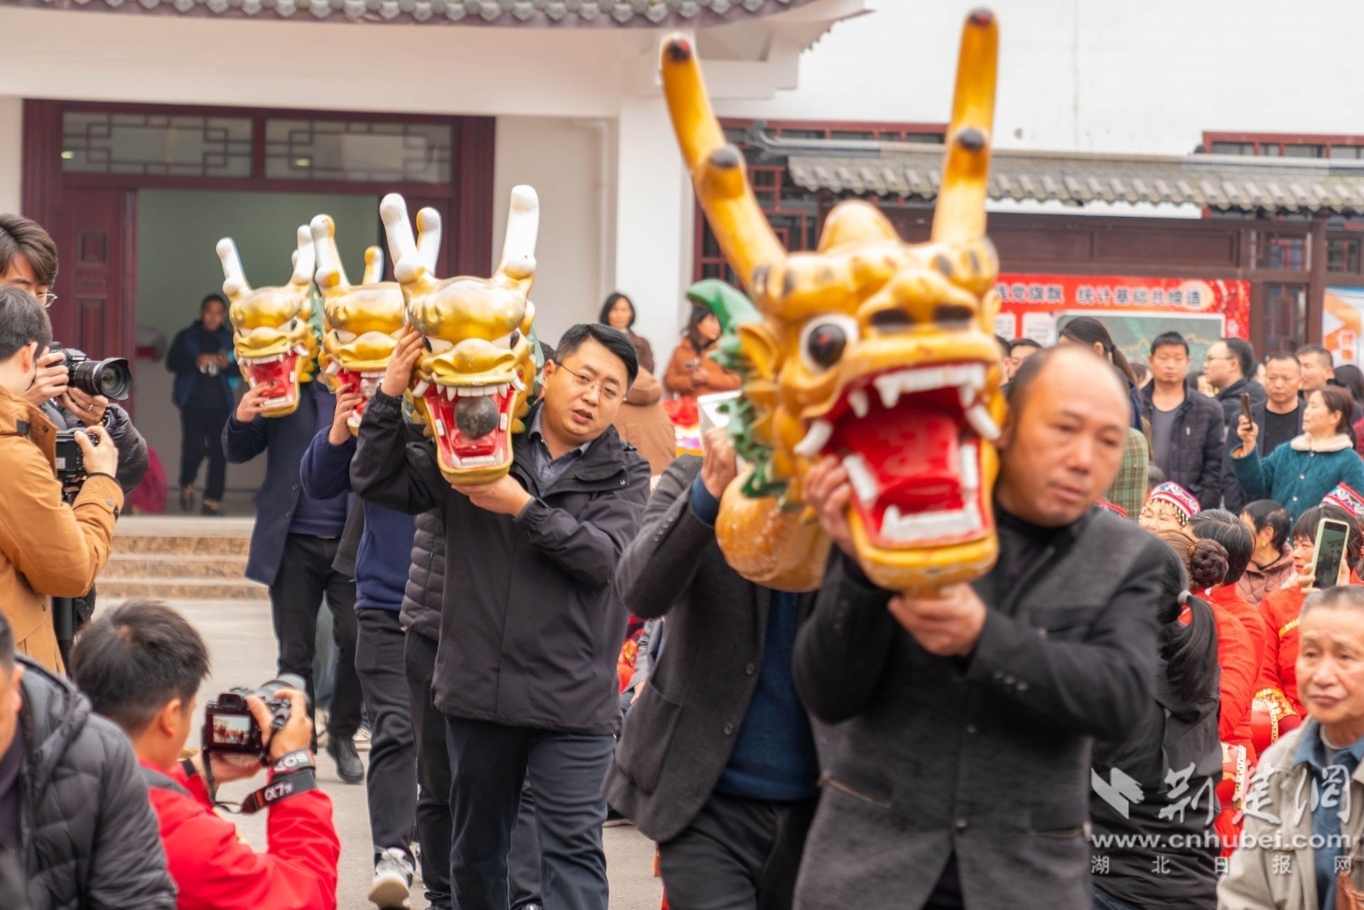
<instances>
[{"instance_id":1,"label":"bright white wall above gray tiled roof at upper right","mask_svg":"<svg viewBox=\"0 0 1364 910\"><path fill-rule=\"evenodd\" d=\"M977 0L873 0L801 59L799 87L722 116L944 123ZM1185 154L1204 130L1360 134L1364 4L992 0L998 147Z\"/></svg>"}]
</instances>

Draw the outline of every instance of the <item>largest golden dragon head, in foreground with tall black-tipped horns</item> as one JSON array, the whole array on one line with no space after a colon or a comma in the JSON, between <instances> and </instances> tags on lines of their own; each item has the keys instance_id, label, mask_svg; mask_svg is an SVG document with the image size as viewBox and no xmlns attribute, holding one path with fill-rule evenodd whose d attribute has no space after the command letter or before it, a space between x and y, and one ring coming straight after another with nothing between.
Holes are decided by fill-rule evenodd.
<instances>
[{"instance_id":1,"label":"largest golden dragon head, in foreground with tall black-tipped horns","mask_svg":"<svg viewBox=\"0 0 1364 910\"><path fill-rule=\"evenodd\" d=\"M730 563L753 581L818 587L829 542L802 508L801 479L825 456L848 471L858 561L876 584L934 589L977 578L996 559L993 443L1005 405L985 196L997 46L993 14L970 14L929 243L906 244L874 206L847 201L816 251L788 254L742 154L726 143L692 42L663 44L682 156L757 307L713 284L693 289L734 336L720 356L746 375L731 428L752 467L722 498L716 528Z\"/></svg>"}]
</instances>

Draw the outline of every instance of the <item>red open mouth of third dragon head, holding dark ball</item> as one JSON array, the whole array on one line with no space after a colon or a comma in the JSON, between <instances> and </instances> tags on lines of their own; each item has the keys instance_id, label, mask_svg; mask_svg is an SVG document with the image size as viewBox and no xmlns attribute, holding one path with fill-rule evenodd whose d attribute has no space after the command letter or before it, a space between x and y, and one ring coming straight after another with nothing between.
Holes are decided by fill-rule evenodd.
<instances>
[{"instance_id":1,"label":"red open mouth of third dragon head, holding dark ball","mask_svg":"<svg viewBox=\"0 0 1364 910\"><path fill-rule=\"evenodd\" d=\"M525 389L510 382L442 386L423 379L412 394L426 402L435 431L436 456L446 472L487 471L512 463L512 409Z\"/></svg>"}]
</instances>

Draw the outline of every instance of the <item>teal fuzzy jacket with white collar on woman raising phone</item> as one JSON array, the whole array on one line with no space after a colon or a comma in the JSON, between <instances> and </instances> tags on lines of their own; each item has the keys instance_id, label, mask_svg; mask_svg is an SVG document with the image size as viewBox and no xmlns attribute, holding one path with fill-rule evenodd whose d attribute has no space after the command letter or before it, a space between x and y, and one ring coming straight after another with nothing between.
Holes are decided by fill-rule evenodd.
<instances>
[{"instance_id":1,"label":"teal fuzzy jacket with white collar on woman raising phone","mask_svg":"<svg viewBox=\"0 0 1364 910\"><path fill-rule=\"evenodd\" d=\"M1311 437L1303 434L1281 445L1267 458L1260 458L1254 449L1244 458L1232 456L1232 469L1247 499L1274 499L1296 520L1320 505L1322 497L1339 483L1364 493L1364 486L1360 486L1364 484L1364 461L1360 461L1349 437L1335 437L1316 452L1309 450L1309 445ZM1232 452L1240 447L1241 441L1236 439Z\"/></svg>"}]
</instances>

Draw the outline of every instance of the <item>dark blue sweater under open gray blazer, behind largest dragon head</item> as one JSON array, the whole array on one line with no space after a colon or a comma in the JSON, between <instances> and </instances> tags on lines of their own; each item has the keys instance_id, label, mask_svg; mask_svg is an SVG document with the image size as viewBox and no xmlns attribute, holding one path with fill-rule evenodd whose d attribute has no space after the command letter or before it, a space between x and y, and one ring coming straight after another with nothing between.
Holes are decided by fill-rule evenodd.
<instances>
[{"instance_id":1,"label":"dark blue sweater under open gray blazer, behind largest dragon head","mask_svg":"<svg viewBox=\"0 0 1364 910\"><path fill-rule=\"evenodd\" d=\"M720 503L697 475L692 483L692 512L713 525L719 509ZM816 794L820 763L810 718L791 677L801 599L788 591L769 591L769 595L757 686L715 789L747 799L806 799Z\"/></svg>"}]
</instances>

